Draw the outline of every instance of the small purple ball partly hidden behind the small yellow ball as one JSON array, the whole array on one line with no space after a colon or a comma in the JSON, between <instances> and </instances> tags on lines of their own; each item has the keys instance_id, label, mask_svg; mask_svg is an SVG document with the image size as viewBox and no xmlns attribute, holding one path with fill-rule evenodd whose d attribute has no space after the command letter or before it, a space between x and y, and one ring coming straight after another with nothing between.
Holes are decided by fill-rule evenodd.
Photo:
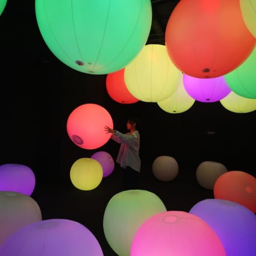
<instances>
[{"instance_id":1,"label":"small purple ball partly hidden behind the small yellow ball","mask_svg":"<svg viewBox=\"0 0 256 256\"><path fill-rule=\"evenodd\" d=\"M103 170L103 177L107 177L113 172L114 160L108 152L98 151L94 153L91 158L97 160L101 164Z\"/></svg>"}]
</instances>

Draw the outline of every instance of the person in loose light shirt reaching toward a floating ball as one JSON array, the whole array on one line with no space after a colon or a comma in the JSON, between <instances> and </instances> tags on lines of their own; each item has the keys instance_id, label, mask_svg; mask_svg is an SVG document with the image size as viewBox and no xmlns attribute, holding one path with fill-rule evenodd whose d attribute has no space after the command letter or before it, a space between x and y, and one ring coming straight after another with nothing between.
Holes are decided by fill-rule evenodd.
<instances>
[{"instance_id":1,"label":"person in loose light shirt reaching toward a floating ball","mask_svg":"<svg viewBox=\"0 0 256 256\"><path fill-rule=\"evenodd\" d=\"M111 133L111 139L120 143L116 162L123 170L123 186L125 190L138 189L140 173L140 133L137 130L137 118L130 117L127 120L126 128L128 133L120 133L109 126L105 126L105 131Z\"/></svg>"}]
</instances>

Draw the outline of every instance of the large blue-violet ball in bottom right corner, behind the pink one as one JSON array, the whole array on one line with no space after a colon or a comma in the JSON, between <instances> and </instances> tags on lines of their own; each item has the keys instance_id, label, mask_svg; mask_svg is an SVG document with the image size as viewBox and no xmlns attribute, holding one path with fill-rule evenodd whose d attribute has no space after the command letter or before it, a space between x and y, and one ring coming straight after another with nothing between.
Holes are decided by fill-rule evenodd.
<instances>
[{"instance_id":1,"label":"large blue-violet ball in bottom right corner, behind the pink one","mask_svg":"<svg viewBox=\"0 0 256 256\"><path fill-rule=\"evenodd\" d=\"M256 216L248 208L228 200L205 199L195 204L189 213L211 226L226 256L256 255Z\"/></svg>"}]
</instances>

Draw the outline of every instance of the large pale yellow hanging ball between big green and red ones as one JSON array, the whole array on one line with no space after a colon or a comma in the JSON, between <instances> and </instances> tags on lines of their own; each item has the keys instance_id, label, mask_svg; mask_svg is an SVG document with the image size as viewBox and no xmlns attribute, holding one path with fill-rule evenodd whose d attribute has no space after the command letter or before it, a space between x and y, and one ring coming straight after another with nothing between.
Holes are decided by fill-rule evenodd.
<instances>
[{"instance_id":1,"label":"large pale yellow hanging ball between big green and red ones","mask_svg":"<svg viewBox=\"0 0 256 256\"><path fill-rule=\"evenodd\" d=\"M145 102L168 98L178 87L180 71L173 65L164 45L146 45L125 67L130 93Z\"/></svg>"}]
</instances>

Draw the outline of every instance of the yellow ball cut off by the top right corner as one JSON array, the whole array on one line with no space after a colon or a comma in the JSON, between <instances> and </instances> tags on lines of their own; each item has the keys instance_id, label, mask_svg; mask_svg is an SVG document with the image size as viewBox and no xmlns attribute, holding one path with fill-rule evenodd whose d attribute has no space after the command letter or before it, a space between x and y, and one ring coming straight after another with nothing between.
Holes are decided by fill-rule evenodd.
<instances>
[{"instance_id":1,"label":"yellow ball cut off by the top right corner","mask_svg":"<svg viewBox=\"0 0 256 256\"><path fill-rule=\"evenodd\" d=\"M256 1L240 0L240 8L246 27L256 37Z\"/></svg>"}]
</instances>

